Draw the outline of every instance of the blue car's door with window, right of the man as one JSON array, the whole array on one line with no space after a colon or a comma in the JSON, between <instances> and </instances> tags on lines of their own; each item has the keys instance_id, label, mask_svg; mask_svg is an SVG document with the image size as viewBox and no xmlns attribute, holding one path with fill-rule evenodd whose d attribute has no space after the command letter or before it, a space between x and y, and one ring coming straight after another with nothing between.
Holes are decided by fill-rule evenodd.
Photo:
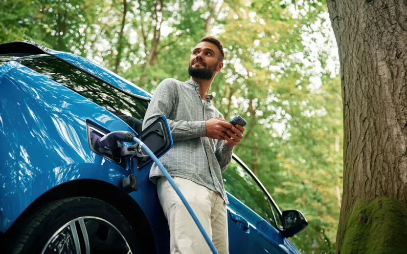
<instances>
[{"instance_id":1,"label":"blue car's door with window, right of the man","mask_svg":"<svg viewBox=\"0 0 407 254\"><path fill-rule=\"evenodd\" d=\"M279 210L249 169L234 157L223 174L228 192L229 251L233 253L298 253L278 230Z\"/></svg>"}]
</instances>

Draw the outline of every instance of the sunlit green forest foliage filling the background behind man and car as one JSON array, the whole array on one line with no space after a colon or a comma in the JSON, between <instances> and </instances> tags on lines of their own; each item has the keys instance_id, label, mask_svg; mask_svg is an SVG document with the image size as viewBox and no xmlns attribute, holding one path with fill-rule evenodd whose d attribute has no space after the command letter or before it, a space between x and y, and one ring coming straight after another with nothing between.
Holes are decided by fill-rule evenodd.
<instances>
[{"instance_id":1,"label":"sunlit green forest foliage filling the background behind man and car","mask_svg":"<svg viewBox=\"0 0 407 254\"><path fill-rule=\"evenodd\" d=\"M302 253L333 252L342 188L342 104L325 1L126 4L124 16L123 1L3 0L0 42L33 40L70 51L154 92L165 78L189 79L191 49L206 34L216 36L226 57L211 87L214 104L226 120L239 114L248 121L234 152L281 210L301 210L308 219L309 227L291 238L296 247Z\"/></svg>"}]
</instances>

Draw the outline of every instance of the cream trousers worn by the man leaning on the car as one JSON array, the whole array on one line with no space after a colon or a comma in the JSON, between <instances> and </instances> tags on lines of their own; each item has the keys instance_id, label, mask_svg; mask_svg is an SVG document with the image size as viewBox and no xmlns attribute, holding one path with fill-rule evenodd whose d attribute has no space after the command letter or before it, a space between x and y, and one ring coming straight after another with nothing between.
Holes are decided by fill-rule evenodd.
<instances>
[{"instance_id":1,"label":"cream trousers worn by the man leaning on the car","mask_svg":"<svg viewBox=\"0 0 407 254\"><path fill-rule=\"evenodd\" d=\"M219 254L229 253L226 203L221 195L193 181L181 177L173 179ZM157 190L170 228L171 254L210 254L204 236L165 177L158 180Z\"/></svg>"}]
</instances>

